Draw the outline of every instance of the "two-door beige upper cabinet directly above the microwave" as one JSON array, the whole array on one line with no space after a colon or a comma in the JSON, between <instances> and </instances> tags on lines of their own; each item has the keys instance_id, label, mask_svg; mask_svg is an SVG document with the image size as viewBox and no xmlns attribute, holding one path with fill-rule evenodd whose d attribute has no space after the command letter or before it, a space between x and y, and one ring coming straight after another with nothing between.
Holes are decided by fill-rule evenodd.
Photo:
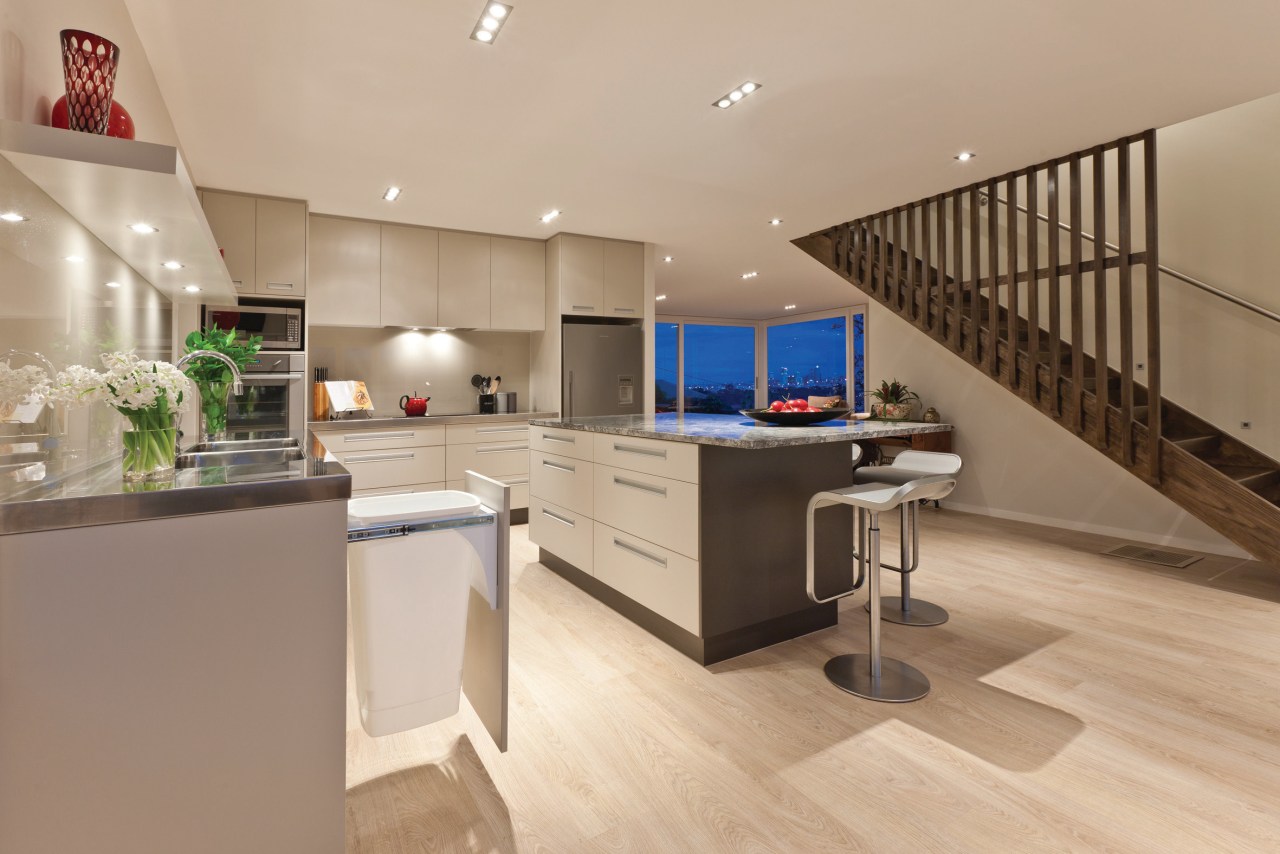
<instances>
[{"instance_id":1,"label":"two-door beige upper cabinet directly above the microwave","mask_svg":"<svg viewBox=\"0 0 1280 854\"><path fill-rule=\"evenodd\" d=\"M306 296L306 202L216 189L202 191L201 201L239 293Z\"/></svg>"}]
</instances>

